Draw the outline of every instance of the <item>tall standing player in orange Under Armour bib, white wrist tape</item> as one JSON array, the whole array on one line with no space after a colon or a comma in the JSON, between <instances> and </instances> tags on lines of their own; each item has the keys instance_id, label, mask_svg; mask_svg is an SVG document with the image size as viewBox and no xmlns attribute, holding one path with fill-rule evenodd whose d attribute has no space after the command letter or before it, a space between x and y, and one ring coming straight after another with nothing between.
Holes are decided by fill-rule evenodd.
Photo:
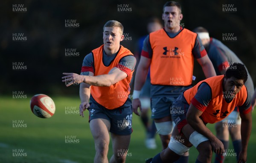
<instances>
[{"instance_id":1,"label":"tall standing player in orange Under Armour bib, white wrist tape","mask_svg":"<svg viewBox=\"0 0 256 163\"><path fill-rule=\"evenodd\" d=\"M140 90L150 66L151 118L155 121L163 149L168 146L173 129L170 114L172 103L181 92L192 87L194 58L207 78L216 75L197 34L180 26L182 18L179 3L169 1L164 4L164 28L146 37L135 75L132 106L133 112L139 115ZM179 161L188 162L188 153Z\"/></svg>"}]
</instances>

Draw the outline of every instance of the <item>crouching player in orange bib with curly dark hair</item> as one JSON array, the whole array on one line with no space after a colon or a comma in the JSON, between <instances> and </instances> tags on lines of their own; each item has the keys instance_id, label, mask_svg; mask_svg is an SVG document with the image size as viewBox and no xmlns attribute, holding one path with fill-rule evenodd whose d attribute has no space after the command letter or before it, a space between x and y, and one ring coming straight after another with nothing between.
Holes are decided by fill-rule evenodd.
<instances>
[{"instance_id":1,"label":"crouching player in orange bib with curly dark hair","mask_svg":"<svg viewBox=\"0 0 256 163\"><path fill-rule=\"evenodd\" d=\"M192 146L199 152L195 163L211 163L212 151L216 154L226 151L206 124L223 120L236 106L241 116L242 140L238 163L245 163L252 130L251 97L244 86L246 80L244 65L233 63L224 75L205 79L180 94L173 107L181 107L184 114L172 114L176 124L172 141L168 148L150 159L151 163L173 163ZM146 163L150 163L150 160Z\"/></svg>"}]
</instances>

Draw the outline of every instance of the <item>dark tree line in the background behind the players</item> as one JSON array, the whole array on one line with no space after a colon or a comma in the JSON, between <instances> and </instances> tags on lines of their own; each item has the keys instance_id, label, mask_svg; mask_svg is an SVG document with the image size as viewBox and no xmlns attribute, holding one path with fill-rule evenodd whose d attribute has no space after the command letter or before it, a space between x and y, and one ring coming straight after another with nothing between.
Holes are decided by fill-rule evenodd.
<instances>
[{"instance_id":1,"label":"dark tree line in the background behind the players","mask_svg":"<svg viewBox=\"0 0 256 163\"><path fill-rule=\"evenodd\" d=\"M24 91L26 94L78 94L78 86L66 88L62 72L80 73L83 58L102 45L102 27L107 20L118 20L124 26L128 40L122 45L136 51L139 37L147 34L148 18L161 19L164 0L25 0L1 2L0 14L0 94ZM236 41L225 41L246 64L256 82L255 12L250 0L180 0L182 23L187 29L204 26L210 36L223 40L223 33L233 33ZM25 12L13 11L13 4L23 4ZM127 11L120 12L125 4ZM236 12L224 12L230 4ZM124 6L122 6L124 8ZM17 7L15 7L17 8ZM22 7L20 7L22 8ZM226 7L227 8L227 7ZM78 23L68 28L65 24ZM13 35L14 34L14 35ZM14 41L23 34L26 41ZM76 53L65 53L65 52ZM75 55L76 54L76 55ZM26 69L14 70L13 64L23 63ZM196 63L196 62L195 62ZM17 66L17 65L16 65ZM204 79L201 68L194 70L198 82Z\"/></svg>"}]
</instances>

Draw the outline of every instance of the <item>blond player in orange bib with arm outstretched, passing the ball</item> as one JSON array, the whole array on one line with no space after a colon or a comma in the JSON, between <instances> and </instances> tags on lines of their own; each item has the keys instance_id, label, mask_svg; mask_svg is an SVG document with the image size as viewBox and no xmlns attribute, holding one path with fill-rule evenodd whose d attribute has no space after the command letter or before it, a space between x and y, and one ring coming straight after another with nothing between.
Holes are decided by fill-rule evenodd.
<instances>
[{"instance_id":1,"label":"blond player in orange bib with arm outstretched, passing the ball","mask_svg":"<svg viewBox=\"0 0 256 163\"><path fill-rule=\"evenodd\" d=\"M103 27L103 45L84 57L81 75L63 73L62 81L80 84L80 115L89 110L90 130L95 142L94 163L108 163L111 132L113 155L110 163L125 163L130 139L132 108L129 98L136 58L120 45L123 26L110 20ZM90 104L89 104L90 98Z\"/></svg>"}]
</instances>

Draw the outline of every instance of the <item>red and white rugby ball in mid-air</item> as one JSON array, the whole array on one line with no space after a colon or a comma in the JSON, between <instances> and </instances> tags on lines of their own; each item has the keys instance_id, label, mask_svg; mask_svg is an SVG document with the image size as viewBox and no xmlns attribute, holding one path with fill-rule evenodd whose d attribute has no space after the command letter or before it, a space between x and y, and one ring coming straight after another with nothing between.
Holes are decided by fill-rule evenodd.
<instances>
[{"instance_id":1,"label":"red and white rugby ball in mid-air","mask_svg":"<svg viewBox=\"0 0 256 163\"><path fill-rule=\"evenodd\" d=\"M49 118L55 113L55 104L51 97L45 94L36 94L30 100L32 112L40 118Z\"/></svg>"}]
</instances>

